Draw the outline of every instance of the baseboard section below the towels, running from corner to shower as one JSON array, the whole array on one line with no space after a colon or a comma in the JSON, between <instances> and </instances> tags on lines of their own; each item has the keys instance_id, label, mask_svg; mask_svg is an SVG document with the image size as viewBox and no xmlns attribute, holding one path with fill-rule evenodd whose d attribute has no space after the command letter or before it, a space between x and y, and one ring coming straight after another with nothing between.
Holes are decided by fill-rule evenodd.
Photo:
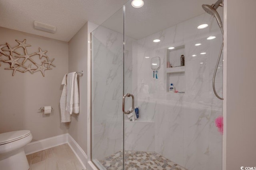
<instances>
[{"instance_id":1,"label":"baseboard section below the towels, running from corner to shower","mask_svg":"<svg viewBox=\"0 0 256 170\"><path fill-rule=\"evenodd\" d=\"M76 157L78 158L79 162L82 164L83 168L86 169L86 165L88 162L88 157L82 148L76 143L76 141L68 134L68 145L75 153Z\"/></svg>"}]
</instances>

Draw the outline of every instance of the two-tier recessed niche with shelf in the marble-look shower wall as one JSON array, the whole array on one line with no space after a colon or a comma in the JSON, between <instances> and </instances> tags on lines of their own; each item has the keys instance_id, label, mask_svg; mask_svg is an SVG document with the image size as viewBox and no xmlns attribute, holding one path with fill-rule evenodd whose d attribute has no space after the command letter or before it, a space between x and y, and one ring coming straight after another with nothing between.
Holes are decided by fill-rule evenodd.
<instances>
[{"instance_id":1,"label":"two-tier recessed niche with shelf in the marble-look shower wall","mask_svg":"<svg viewBox=\"0 0 256 170\"><path fill-rule=\"evenodd\" d=\"M169 92L169 86L172 83L175 87L175 90L178 92L185 92L186 79L185 79L185 67L181 66L180 56L185 55L185 45L177 46L173 49L167 49L166 52L166 61L170 62L170 68L167 68L166 65L166 91ZM181 93L180 93L181 94Z\"/></svg>"}]
</instances>

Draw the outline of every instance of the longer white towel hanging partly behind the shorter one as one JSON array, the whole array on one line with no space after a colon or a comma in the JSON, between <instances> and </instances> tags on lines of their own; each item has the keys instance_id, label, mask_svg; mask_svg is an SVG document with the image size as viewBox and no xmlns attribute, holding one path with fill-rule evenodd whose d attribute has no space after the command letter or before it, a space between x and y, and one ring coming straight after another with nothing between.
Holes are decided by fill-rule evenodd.
<instances>
[{"instance_id":1,"label":"longer white towel hanging partly behind the shorter one","mask_svg":"<svg viewBox=\"0 0 256 170\"><path fill-rule=\"evenodd\" d=\"M60 115L61 122L71 122L71 115L66 111L66 99L67 99L67 74L62 79L63 90L60 97Z\"/></svg>"}]
</instances>

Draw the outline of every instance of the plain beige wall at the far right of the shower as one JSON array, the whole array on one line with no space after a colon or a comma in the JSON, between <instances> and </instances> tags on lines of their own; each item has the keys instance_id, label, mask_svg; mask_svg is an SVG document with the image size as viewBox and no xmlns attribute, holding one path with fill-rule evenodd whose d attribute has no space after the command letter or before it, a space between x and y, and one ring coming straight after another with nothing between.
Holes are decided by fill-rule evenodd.
<instances>
[{"instance_id":1,"label":"plain beige wall at the far right of the shower","mask_svg":"<svg viewBox=\"0 0 256 170\"><path fill-rule=\"evenodd\" d=\"M225 0L224 5L227 12L224 154L226 169L240 170L241 166L256 166L256 1Z\"/></svg>"}]
</instances>

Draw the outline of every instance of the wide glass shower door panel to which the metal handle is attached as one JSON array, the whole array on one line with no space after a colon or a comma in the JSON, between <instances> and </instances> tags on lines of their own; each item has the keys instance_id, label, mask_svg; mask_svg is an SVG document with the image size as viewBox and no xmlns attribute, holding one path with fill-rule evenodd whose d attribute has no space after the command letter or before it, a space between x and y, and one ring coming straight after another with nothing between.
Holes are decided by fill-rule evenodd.
<instances>
[{"instance_id":1,"label":"wide glass shower door panel to which the metal handle is attached","mask_svg":"<svg viewBox=\"0 0 256 170\"><path fill-rule=\"evenodd\" d=\"M139 118L124 117L125 169L221 170L215 119L222 116L222 100L214 95L212 77L222 34L202 8L215 1L144 0L142 8L131 2L124 15L124 94L134 94ZM208 27L198 29L201 24ZM160 57L157 78L154 57ZM220 61L215 84L222 96ZM169 92L171 83L176 93Z\"/></svg>"}]
</instances>

